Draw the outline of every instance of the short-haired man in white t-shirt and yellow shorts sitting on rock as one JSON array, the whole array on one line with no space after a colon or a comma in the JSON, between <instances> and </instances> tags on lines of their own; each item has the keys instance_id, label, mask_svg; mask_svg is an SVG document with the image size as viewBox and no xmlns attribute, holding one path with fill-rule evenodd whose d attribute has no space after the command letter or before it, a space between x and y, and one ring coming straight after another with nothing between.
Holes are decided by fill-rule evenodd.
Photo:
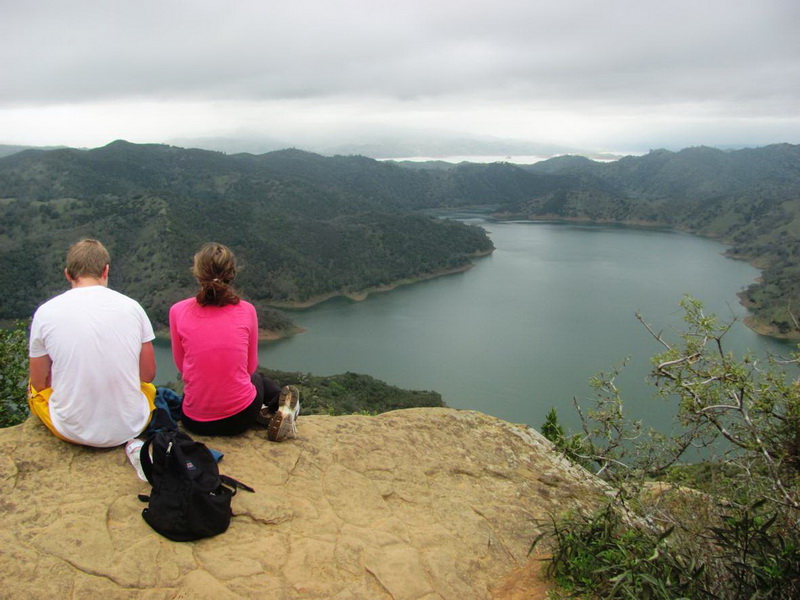
<instances>
[{"instance_id":1,"label":"short-haired man in white t-shirt and yellow shorts sitting on rock","mask_svg":"<svg viewBox=\"0 0 800 600\"><path fill-rule=\"evenodd\" d=\"M109 255L85 239L67 253L71 289L33 315L28 404L74 444L110 448L136 437L154 408L153 326L135 300L108 289Z\"/></svg>"}]
</instances>

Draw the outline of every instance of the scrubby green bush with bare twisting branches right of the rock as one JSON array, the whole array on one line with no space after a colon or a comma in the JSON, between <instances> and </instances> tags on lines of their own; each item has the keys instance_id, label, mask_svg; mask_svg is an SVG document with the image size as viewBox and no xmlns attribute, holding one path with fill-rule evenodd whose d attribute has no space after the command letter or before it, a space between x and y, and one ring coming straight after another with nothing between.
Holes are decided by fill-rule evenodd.
<instances>
[{"instance_id":1,"label":"scrubby green bush with bare twisting branches right of the rock","mask_svg":"<svg viewBox=\"0 0 800 600\"><path fill-rule=\"evenodd\" d=\"M800 598L800 386L789 360L737 358L729 325L682 302L676 343L649 326L657 395L676 406L672 435L627 419L618 372L597 377L583 432L551 412L543 433L608 482L593 513L554 517L532 549L568 595L598 598ZM702 462L681 465L687 455Z\"/></svg>"}]
</instances>

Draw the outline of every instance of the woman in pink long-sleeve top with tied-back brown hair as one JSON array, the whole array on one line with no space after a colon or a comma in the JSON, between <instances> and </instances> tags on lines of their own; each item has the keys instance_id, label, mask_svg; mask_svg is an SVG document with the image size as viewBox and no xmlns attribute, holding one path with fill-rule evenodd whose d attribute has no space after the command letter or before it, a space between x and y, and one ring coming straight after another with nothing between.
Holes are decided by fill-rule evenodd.
<instances>
[{"instance_id":1,"label":"woman in pink long-sleeve top with tied-back brown hair","mask_svg":"<svg viewBox=\"0 0 800 600\"><path fill-rule=\"evenodd\" d=\"M257 372L258 319L231 287L233 252L205 244L192 272L200 291L169 310L172 357L184 382L184 427L200 435L237 435L261 423L272 441L293 437L299 392L278 389Z\"/></svg>"}]
</instances>

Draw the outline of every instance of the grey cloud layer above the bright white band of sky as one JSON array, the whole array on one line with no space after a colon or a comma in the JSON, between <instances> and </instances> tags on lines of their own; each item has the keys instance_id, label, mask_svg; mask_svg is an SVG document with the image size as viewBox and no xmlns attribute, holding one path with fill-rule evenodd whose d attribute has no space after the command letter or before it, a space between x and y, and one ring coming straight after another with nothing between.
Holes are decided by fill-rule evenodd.
<instances>
[{"instance_id":1,"label":"grey cloud layer above the bright white band of sky","mask_svg":"<svg viewBox=\"0 0 800 600\"><path fill-rule=\"evenodd\" d=\"M98 102L347 101L442 119L509 106L531 121L784 119L797 135L798 22L795 0L0 0L0 117Z\"/></svg>"}]
</instances>

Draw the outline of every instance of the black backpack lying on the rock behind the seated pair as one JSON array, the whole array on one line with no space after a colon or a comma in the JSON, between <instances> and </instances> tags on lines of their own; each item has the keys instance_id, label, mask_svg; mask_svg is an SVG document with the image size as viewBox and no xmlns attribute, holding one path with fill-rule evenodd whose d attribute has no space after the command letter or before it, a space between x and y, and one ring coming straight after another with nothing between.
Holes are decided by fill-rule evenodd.
<instances>
[{"instance_id":1,"label":"black backpack lying on the rock behind the seated pair","mask_svg":"<svg viewBox=\"0 0 800 600\"><path fill-rule=\"evenodd\" d=\"M152 448L153 456L150 457ZM142 470L153 486L142 517L158 533L189 542L222 533L231 522L236 489L253 488L220 475L211 452L182 432L160 431L144 443Z\"/></svg>"}]
</instances>

